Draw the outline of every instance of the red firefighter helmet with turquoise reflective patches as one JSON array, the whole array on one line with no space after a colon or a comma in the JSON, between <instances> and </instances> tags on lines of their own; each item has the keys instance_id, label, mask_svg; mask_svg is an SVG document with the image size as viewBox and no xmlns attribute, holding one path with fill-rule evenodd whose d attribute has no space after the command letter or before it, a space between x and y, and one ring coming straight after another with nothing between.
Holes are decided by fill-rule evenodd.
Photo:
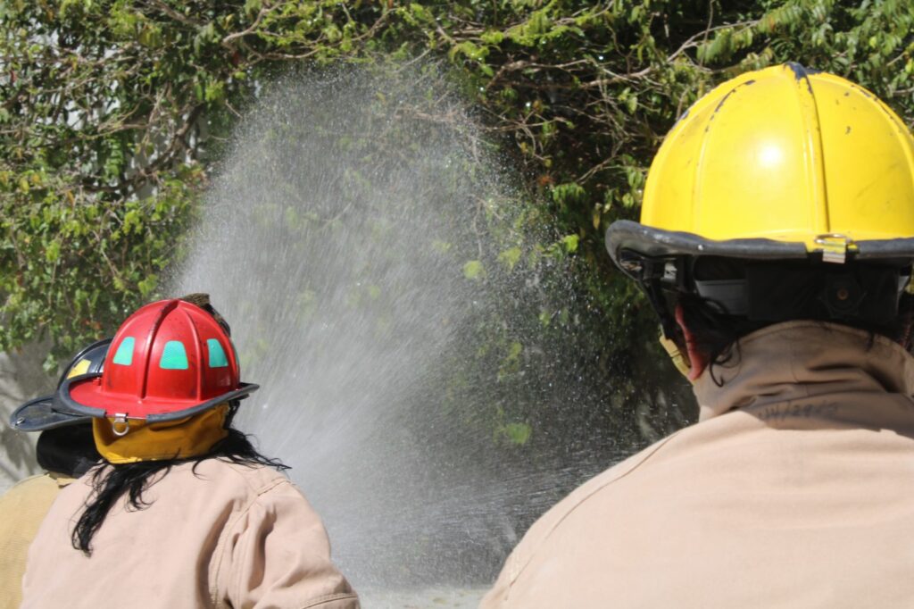
<instances>
[{"instance_id":1,"label":"red firefighter helmet with turquoise reflective patches","mask_svg":"<svg viewBox=\"0 0 914 609\"><path fill-rule=\"evenodd\" d=\"M93 417L174 421L258 389L239 376L235 347L213 315L162 300L128 317L101 373L65 380L55 402Z\"/></svg>"}]
</instances>

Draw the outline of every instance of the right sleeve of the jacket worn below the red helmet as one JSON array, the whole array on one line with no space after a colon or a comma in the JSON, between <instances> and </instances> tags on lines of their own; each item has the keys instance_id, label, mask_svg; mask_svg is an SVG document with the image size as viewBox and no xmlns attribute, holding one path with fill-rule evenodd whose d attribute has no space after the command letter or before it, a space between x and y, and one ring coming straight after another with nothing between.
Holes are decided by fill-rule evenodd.
<instances>
[{"instance_id":1,"label":"right sleeve of the jacket worn below the red helmet","mask_svg":"<svg viewBox=\"0 0 914 609\"><path fill-rule=\"evenodd\" d=\"M216 606L359 608L358 596L330 560L321 518L288 481L261 492L228 526Z\"/></svg>"}]
</instances>

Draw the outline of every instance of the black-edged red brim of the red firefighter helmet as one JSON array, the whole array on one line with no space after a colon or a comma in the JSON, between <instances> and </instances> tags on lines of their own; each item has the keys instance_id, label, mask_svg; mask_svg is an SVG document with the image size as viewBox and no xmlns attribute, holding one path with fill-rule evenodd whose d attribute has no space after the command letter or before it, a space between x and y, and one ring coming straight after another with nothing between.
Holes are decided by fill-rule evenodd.
<instances>
[{"instance_id":1,"label":"black-edged red brim of the red firefighter helmet","mask_svg":"<svg viewBox=\"0 0 914 609\"><path fill-rule=\"evenodd\" d=\"M54 407L59 411L73 412L94 418L126 416L146 422L176 421L215 408L227 401L240 400L260 389L254 383L239 383L237 390L227 391L204 402L137 400L135 396L119 396L101 392L101 373L86 374L66 379L54 394ZM94 406L93 404L99 404Z\"/></svg>"}]
</instances>

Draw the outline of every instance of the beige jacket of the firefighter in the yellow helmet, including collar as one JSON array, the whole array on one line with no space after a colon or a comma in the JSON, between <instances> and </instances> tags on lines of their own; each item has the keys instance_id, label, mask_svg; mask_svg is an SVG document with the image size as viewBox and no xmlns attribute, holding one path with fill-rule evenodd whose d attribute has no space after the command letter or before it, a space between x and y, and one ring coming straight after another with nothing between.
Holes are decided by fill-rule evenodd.
<instances>
[{"instance_id":1,"label":"beige jacket of the firefighter in the yellow helmet, including collar","mask_svg":"<svg viewBox=\"0 0 914 609\"><path fill-rule=\"evenodd\" d=\"M484 609L914 604L909 354L794 322L715 371L701 422L537 520Z\"/></svg>"}]
</instances>

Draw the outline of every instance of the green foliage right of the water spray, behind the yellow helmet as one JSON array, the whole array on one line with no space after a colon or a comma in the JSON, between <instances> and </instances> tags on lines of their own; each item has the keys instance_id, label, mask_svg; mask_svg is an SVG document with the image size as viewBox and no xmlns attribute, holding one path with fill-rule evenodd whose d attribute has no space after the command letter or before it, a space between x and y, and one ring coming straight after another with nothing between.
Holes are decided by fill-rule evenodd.
<instances>
[{"instance_id":1,"label":"green foliage right of the water spray, behind the yellow helmet","mask_svg":"<svg viewBox=\"0 0 914 609\"><path fill-rule=\"evenodd\" d=\"M447 52L493 130L513 136L539 194L531 204L547 206L543 219L566 235L543 251L577 257L591 304L614 322L599 339L621 350L630 347L622 310L643 303L614 277L602 233L636 216L658 144L700 95L793 60L859 81L914 119L914 11L904 0L473 2L421 12L404 22L423 30L420 46Z\"/></svg>"}]
</instances>

